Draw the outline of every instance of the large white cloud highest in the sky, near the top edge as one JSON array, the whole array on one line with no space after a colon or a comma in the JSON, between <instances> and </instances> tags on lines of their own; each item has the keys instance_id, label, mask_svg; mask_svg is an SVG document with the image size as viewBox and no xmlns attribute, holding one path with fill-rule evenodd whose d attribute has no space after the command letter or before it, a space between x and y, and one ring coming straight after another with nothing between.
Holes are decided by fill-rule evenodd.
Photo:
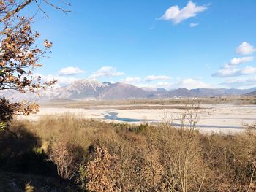
<instances>
[{"instance_id":1,"label":"large white cloud highest in the sky, near the top edge","mask_svg":"<svg viewBox=\"0 0 256 192\"><path fill-rule=\"evenodd\" d=\"M181 23L183 20L195 17L198 12L203 12L206 9L206 6L197 6L192 1L189 1L187 3L187 6L182 9L180 9L178 5L170 7L159 19L171 20L174 24L178 24Z\"/></svg>"}]
</instances>

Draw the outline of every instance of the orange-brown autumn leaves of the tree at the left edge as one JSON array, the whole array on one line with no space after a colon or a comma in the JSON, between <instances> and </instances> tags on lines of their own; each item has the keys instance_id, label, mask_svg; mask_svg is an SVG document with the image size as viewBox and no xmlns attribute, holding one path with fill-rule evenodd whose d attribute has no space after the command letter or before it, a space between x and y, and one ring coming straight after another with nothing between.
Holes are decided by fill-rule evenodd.
<instances>
[{"instance_id":1,"label":"orange-brown autumn leaves of the tree at the left edge","mask_svg":"<svg viewBox=\"0 0 256 192\"><path fill-rule=\"evenodd\" d=\"M45 40L37 47L39 33L31 28L32 18L20 15L20 10L32 0L0 0L0 91L14 90L20 93L39 93L56 81L42 82L34 75L34 69L42 66L39 59L45 57L52 43ZM1 94L3 95L3 94ZM0 121L7 121L14 114L29 115L38 110L37 104L18 103L5 99L1 101Z\"/></svg>"}]
</instances>

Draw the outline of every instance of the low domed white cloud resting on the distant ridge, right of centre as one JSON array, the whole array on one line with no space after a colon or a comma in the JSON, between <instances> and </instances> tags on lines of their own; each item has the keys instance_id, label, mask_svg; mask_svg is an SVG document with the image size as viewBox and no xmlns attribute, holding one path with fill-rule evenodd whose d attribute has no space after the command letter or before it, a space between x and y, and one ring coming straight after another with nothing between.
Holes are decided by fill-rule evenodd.
<instances>
[{"instance_id":1,"label":"low domed white cloud resting on the distant ridge, right of centre","mask_svg":"<svg viewBox=\"0 0 256 192\"><path fill-rule=\"evenodd\" d=\"M187 78L187 79L181 80L181 82L173 84L171 88L193 89L193 88L211 88L211 86L208 85L206 82L203 82L200 80L194 80L192 78Z\"/></svg>"}]
</instances>

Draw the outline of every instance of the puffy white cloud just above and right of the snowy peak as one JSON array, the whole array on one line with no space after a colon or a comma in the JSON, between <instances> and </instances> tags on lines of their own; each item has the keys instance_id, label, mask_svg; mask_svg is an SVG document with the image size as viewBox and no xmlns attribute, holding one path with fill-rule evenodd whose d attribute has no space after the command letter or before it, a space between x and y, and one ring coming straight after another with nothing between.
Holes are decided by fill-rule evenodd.
<instances>
[{"instance_id":1,"label":"puffy white cloud just above and right of the snowy peak","mask_svg":"<svg viewBox=\"0 0 256 192\"><path fill-rule=\"evenodd\" d=\"M94 72L89 78L97 77L118 77L124 75L123 72L116 72L116 68L113 66L102 66L97 72Z\"/></svg>"}]
</instances>

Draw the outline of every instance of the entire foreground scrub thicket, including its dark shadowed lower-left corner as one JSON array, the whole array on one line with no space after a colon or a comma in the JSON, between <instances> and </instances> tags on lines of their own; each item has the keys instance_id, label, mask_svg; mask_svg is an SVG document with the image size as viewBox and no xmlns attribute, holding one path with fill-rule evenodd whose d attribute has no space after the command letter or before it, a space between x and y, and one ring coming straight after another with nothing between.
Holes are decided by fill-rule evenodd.
<instances>
[{"instance_id":1,"label":"entire foreground scrub thicket, including its dark shadowed lower-left corner","mask_svg":"<svg viewBox=\"0 0 256 192\"><path fill-rule=\"evenodd\" d=\"M0 133L1 188L256 190L255 131L200 134L195 130L196 111L184 114L181 123L189 126L175 128L165 122L132 126L69 114L35 123L14 120Z\"/></svg>"}]
</instances>

